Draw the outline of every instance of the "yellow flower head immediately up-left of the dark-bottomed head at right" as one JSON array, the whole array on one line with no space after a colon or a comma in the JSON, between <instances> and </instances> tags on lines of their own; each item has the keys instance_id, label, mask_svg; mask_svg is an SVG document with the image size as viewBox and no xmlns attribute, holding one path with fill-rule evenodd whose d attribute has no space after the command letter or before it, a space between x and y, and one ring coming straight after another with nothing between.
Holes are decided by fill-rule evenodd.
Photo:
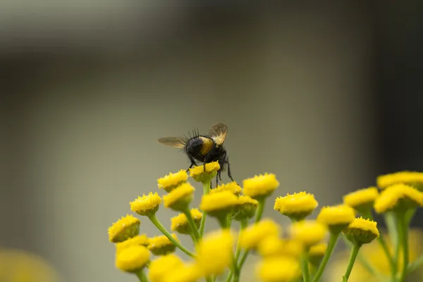
<instances>
[{"instance_id":1,"label":"yellow flower head immediately up-left of the dark-bottomed head at right","mask_svg":"<svg viewBox=\"0 0 423 282\"><path fill-rule=\"evenodd\" d=\"M331 232L339 233L355 219L355 211L345 204L322 207L317 221L329 227Z\"/></svg>"}]
</instances>

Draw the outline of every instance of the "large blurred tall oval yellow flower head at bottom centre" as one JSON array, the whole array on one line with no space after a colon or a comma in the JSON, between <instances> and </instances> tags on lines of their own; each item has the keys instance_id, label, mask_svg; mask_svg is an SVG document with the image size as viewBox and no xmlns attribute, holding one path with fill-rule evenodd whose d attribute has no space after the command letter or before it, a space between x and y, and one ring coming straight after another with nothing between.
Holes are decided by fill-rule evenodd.
<instances>
[{"instance_id":1,"label":"large blurred tall oval yellow flower head at bottom centre","mask_svg":"<svg viewBox=\"0 0 423 282\"><path fill-rule=\"evenodd\" d=\"M233 259L231 231L214 231L204 236L197 246L197 266L204 276L219 275L231 266Z\"/></svg>"}]
</instances>

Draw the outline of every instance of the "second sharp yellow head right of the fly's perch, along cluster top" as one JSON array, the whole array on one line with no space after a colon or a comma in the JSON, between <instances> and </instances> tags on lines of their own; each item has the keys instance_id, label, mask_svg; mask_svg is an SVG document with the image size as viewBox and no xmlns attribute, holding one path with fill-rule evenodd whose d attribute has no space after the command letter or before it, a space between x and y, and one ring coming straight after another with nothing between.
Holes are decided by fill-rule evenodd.
<instances>
[{"instance_id":1,"label":"second sharp yellow head right of the fly's perch, along cluster top","mask_svg":"<svg viewBox=\"0 0 423 282\"><path fill-rule=\"evenodd\" d=\"M319 203L314 199L314 195L307 192L294 193L285 197L277 197L274 209L290 219L302 220L312 214Z\"/></svg>"}]
</instances>

